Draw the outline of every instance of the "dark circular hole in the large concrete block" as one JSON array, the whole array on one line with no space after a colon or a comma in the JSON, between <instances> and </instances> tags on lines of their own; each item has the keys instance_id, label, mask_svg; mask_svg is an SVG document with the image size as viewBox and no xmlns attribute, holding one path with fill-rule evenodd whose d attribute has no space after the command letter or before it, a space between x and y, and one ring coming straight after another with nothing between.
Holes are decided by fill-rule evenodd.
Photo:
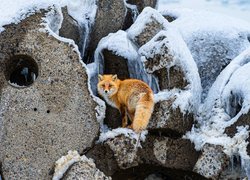
<instances>
[{"instance_id":1,"label":"dark circular hole in the large concrete block","mask_svg":"<svg viewBox=\"0 0 250 180\"><path fill-rule=\"evenodd\" d=\"M38 76L38 65L30 56L14 55L9 59L5 74L7 81L13 87L28 87Z\"/></svg>"}]
</instances>

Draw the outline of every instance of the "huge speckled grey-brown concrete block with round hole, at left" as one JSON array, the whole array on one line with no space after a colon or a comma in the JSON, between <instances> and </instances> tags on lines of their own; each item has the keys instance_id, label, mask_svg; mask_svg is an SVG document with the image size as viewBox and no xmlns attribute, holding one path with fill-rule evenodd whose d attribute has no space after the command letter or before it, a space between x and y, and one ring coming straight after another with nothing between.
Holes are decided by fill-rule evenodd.
<instances>
[{"instance_id":1,"label":"huge speckled grey-brown concrete block with round hole, at left","mask_svg":"<svg viewBox=\"0 0 250 180\"><path fill-rule=\"evenodd\" d=\"M71 149L83 152L99 130L97 104L79 55L72 45L41 31L44 13L7 25L0 34L4 179L50 179L54 162Z\"/></svg>"}]
</instances>

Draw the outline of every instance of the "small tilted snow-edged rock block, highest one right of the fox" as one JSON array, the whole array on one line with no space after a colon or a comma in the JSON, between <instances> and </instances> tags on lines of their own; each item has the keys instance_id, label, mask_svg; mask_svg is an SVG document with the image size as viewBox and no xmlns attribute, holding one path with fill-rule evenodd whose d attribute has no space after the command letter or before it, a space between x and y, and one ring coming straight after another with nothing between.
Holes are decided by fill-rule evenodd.
<instances>
[{"instance_id":1,"label":"small tilted snow-edged rock block, highest one right of the fox","mask_svg":"<svg viewBox=\"0 0 250 180\"><path fill-rule=\"evenodd\" d=\"M138 46L146 44L161 30L166 30L168 21L155 9L145 8L128 29L128 37Z\"/></svg>"}]
</instances>

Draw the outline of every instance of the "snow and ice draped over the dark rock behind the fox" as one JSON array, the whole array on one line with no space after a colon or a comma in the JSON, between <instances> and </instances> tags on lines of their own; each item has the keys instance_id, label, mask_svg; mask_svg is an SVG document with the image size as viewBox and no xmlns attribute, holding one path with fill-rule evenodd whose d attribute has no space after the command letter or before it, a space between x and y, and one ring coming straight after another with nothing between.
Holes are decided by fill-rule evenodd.
<instances>
[{"instance_id":1,"label":"snow and ice draped over the dark rock behind the fox","mask_svg":"<svg viewBox=\"0 0 250 180\"><path fill-rule=\"evenodd\" d=\"M154 92L157 92L158 87L156 85L156 80L153 76L144 71L137 48L128 39L125 31L119 30L116 33L110 33L99 42L95 51L95 72L99 74L103 74L104 71L104 57L102 54L104 49L112 51L115 55L121 56L127 60L130 78L143 80L150 85ZM96 74L94 75L97 76Z\"/></svg>"}]
</instances>

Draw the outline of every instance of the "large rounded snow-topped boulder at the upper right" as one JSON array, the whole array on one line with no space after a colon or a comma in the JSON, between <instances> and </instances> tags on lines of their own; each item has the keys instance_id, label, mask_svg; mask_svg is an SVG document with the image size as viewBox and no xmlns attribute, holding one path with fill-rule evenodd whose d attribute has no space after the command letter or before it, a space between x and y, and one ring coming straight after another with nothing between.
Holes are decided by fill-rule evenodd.
<instances>
[{"instance_id":1,"label":"large rounded snow-topped boulder at the upper right","mask_svg":"<svg viewBox=\"0 0 250 180\"><path fill-rule=\"evenodd\" d=\"M204 100L225 66L249 45L250 24L207 11L172 9L162 12L177 19L179 29L199 69Z\"/></svg>"}]
</instances>

